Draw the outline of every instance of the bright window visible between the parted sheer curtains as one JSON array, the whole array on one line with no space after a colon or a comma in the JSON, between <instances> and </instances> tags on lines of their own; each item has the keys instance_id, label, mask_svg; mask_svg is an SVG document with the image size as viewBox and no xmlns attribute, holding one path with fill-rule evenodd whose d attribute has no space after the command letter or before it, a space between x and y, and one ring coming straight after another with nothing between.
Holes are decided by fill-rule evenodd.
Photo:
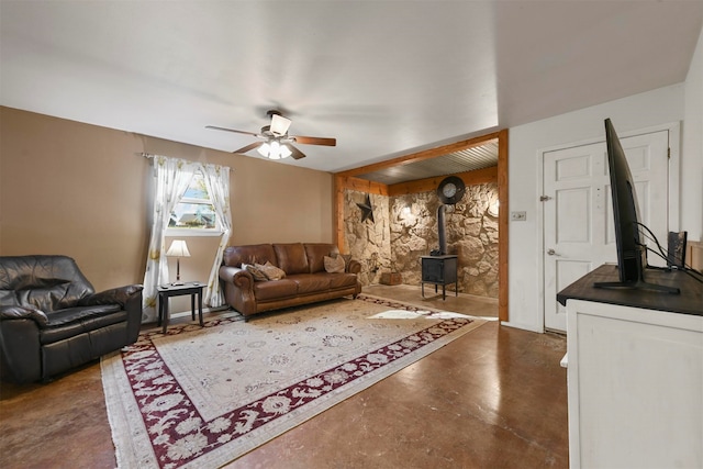
<instances>
[{"instance_id":1,"label":"bright window visible between the parted sheer curtains","mask_svg":"<svg viewBox=\"0 0 703 469\"><path fill-rule=\"evenodd\" d=\"M220 236L222 233L215 209L210 200L205 180L200 171L171 212L167 236Z\"/></svg>"}]
</instances>

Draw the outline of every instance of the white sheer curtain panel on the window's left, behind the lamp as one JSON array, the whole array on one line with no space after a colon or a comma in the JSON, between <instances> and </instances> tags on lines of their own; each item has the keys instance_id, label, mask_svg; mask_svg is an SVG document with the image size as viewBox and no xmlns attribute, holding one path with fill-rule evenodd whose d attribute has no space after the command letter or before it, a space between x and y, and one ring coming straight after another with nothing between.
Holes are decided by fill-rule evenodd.
<instances>
[{"instance_id":1,"label":"white sheer curtain panel on the window's left, behind the lamp","mask_svg":"<svg viewBox=\"0 0 703 469\"><path fill-rule=\"evenodd\" d=\"M185 159L153 157L154 208L152 212L152 236L144 273L144 299L142 322L155 322L156 287L168 282L168 263L165 255L165 233L171 211L183 197L200 164Z\"/></svg>"}]
</instances>

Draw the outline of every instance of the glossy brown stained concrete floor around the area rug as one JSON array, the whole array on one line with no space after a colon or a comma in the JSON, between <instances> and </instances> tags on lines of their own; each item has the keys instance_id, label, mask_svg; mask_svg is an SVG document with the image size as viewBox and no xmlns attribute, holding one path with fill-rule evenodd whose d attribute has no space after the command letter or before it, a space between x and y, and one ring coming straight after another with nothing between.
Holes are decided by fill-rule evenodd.
<instances>
[{"instance_id":1,"label":"glossy brown stained concrete floor around the area rug","mask_svg":"<svg viewBox=\"0 0 703 469\"><path fill-rule=\"evenodd\" d=\"M494 300L451 293L437 305L399 287L365 292L496 315ZM565 353L561 336L491 321L227 467L566 468ZM0 467L115 465L99 364L48 384L0 387Z\"/></svg>"}]
</instances>

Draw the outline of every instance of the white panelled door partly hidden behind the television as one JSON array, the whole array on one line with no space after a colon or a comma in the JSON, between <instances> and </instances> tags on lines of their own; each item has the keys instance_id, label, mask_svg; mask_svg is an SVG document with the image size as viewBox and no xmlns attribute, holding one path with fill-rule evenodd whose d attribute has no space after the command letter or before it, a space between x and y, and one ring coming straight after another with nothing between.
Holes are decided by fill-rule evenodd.
<instances>
[{"instance_id":1,"label":"white panelled door partly hidden behind the television","mask_svg":"<svg viewBox=\"0 0 703 469\"><path fill-rule=\"evenodd\" d=\"M666 252L669 133L621 137L635 179L640 223ZM545 328L566 331L557 293L605 263L617 263L605 142L544 154ZM640 233L644 233L640 231ZM647 245L657 249L652 241ZM652 253L648 264L666 265Z\"/></svg>"}]
</instances>

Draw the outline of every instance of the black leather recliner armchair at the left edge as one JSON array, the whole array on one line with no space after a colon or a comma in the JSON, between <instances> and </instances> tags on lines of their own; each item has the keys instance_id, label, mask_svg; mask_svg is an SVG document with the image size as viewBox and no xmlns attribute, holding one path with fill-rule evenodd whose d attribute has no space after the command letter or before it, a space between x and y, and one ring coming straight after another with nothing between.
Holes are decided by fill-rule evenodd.
<instances>
[{"instance_id":1,"label":"black leather recliner armchair at the left edge","mask_svg":"<svg viewBox=\"0 0 703 469\"><path fill-rule=\"evenodd\" d=\"M70 257L0 257L3 381L46 381L136 342L141 323L141 284L96 293Z\"/></svg>"}]
</instances>

